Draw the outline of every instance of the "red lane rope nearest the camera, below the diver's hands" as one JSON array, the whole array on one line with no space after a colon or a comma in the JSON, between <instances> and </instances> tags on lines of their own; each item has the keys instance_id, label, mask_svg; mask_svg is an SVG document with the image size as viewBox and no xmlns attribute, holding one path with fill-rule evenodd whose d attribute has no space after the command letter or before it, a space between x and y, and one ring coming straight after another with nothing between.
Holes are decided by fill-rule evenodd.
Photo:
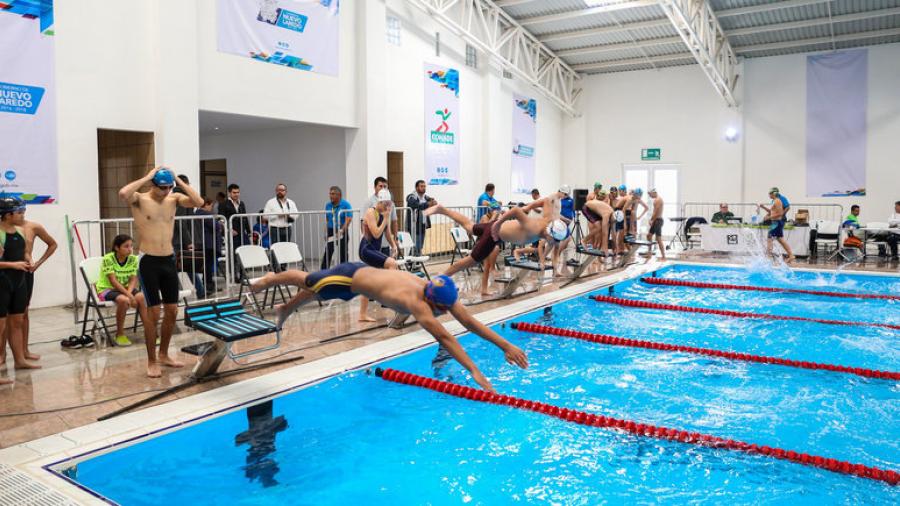
<instances>
[{"instance_id":1,"label":"red lane rope nearest the camera, below the diver's hands","mask_svg":"<svg viewBox=\"0 0 900 506\"><path fill-rule=\"evenodd\" d=\"M879 480L891 485L900 482L900 473L895 471L879 469L877 467L866 466L863 464L853 464L836 459L820 457L818 455L809 455L807 453L798 453L795 451L787 451L781 448L770 446L761 446L756 444L745 443L734 439L721 438L709 434L701 434L699 432L688 432L685 430L672 429L668 427L660 427L645 423L636 423L631 420L621 420L609 416L595 415L568 408L560 408L543 402L529 401L519 397L509 395L500 395L485 390L477 390L471 387L458 385L456 383L448 383L432 378L426 378L408 372L397 371L394 369L376 369L375 374L384 380L404 385L417 386L434 390L435 392L445 393L454 397L461 397L479 402L487 402L491 404L502 404L518 409L534 411L548 416L553 416L567 422L577 423L580 425L588 425L591 427L605 427L610 429L618 429L637 436L653 437L657 439L666 439L669 441L679 441L699 446L707 446L710 448L725 448L729 450L742 451L754 455L766 455L775 459L787 460L797 464L818 467L835 473L849 474L859 476L861 478L869 478Z\"/></svg>"}]
</instances>

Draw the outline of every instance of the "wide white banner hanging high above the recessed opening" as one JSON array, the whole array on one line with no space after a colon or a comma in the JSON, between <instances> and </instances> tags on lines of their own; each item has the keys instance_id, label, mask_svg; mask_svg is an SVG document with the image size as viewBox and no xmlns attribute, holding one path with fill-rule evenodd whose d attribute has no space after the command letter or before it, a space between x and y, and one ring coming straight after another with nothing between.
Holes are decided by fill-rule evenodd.
<instances>
[{"instance_id":1,"label":"wide white banner hanging high above the recessed opening","mask_svg":"<svg viewBox=\"0 0 900 506\"><path fill-rule=\"evenodd\" d=\"M338 75L340 0L219 0L219 51Z\"/></svg>"}]
</instances>

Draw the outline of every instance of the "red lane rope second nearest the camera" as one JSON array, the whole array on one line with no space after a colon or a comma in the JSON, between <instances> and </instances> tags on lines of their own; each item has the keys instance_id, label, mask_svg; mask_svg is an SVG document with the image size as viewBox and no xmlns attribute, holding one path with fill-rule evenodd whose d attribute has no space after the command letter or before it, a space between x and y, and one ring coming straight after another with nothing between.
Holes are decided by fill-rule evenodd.
<instances>
[{"instance_id":1,"label":"red lane rope second nearest the camera","mask_svg":"<svg viewBox=\"0 0 900 506\"><path fill-rule=\"evenodd\" d=\"M800 360L789 360L778 357L767 357L764 355L751 355L749 353L737 353L734 351L715 350L711 348L697 348L694 346L682 346L680 344L658 343L654 341L641 341L639 339L627 339L624 337L608 336L604 334L592 334L589 332L581 332L579 330L560 329L556 327L547 327L546 325L537 325L534 323L513 323L512 328L523 332L534 332L536 334L551 334L554 336L573 337L592 343L609 344L613 346L629 346L632 348L646 348L648 350L660 351L676 351L683 353L694 353L696 355L706 355L710 357L721 357L731 360L743 360L745 362L759 362L761 364L783 365L788 367L798 367L801 369L817 369L823 371L842 372L848 374L856 374L867 378L892 379L900 380L900 372L876 371L874 369L864 369L861 367L847 367L843 365L822 364L818 362L804 362Z\"/></svg>"}]
</instances>

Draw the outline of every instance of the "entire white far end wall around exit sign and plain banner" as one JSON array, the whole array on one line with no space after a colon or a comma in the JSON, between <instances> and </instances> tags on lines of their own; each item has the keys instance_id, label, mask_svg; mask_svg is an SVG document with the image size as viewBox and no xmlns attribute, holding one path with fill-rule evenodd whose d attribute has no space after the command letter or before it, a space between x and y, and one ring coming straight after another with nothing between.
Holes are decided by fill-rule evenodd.
<instances>
[{"instance_id":1,"label":"entire white far end wall around exit sign and plain banner","mask_svg":"<svg viewBox=\"0 0 900 506\"><path fill-rule=\"evenodd\" d=\"M863 206L884 221L898 191L900 44L869 48L868 149L862 198L806 197L806 55L745 60L729 109L697 66L584 79L580 118L566 118L563 178L589 187L621 182L623 163L641 148L661 148L662 163L682 164L681 201L762 202L778 186L793 202ZM735 126L740 138L723 139Z\"/></svg>"}]
</instances>

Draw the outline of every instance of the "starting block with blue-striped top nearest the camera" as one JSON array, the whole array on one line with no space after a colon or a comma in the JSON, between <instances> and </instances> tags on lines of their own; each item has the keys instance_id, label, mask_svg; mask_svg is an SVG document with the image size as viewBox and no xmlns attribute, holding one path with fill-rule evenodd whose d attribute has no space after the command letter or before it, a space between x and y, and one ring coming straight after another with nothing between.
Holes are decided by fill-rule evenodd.
<instances>
[{"instance_id":1,"label":"starting block with blue-striped top nearest the camera","mask_svg":"<svg viewBox=\"0 0 900 506\"><path fill-rule=\"evenodd\" d=\"M281 344L281 330L274 323L245 311L239 298L188 306L184 310L184 324L216 338L191 372L195 379L215 374L226 356L237 361L274 350ZM267 334L275 334L274 344L242 353L231 351L231 345L236 341Z\"/></svg>"}]
</instances>

